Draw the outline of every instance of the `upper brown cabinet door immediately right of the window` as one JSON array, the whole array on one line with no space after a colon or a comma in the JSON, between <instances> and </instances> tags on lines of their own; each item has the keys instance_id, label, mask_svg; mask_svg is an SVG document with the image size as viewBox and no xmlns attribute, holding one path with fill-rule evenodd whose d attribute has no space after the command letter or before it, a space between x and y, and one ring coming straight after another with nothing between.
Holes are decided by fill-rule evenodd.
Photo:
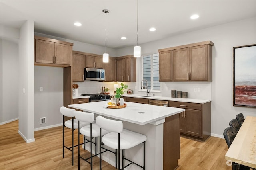
<instances>
[{"instance_id":1,"label":"upper brown cabinet door immediately right of the window","mask_svg":"<svg viewBox=\"0 0 256 170\"><path fill-rule=\"evenodd\" d=\"M159 53L159 81L172 81L172 51Z\"/></svg>"}]
</instances>

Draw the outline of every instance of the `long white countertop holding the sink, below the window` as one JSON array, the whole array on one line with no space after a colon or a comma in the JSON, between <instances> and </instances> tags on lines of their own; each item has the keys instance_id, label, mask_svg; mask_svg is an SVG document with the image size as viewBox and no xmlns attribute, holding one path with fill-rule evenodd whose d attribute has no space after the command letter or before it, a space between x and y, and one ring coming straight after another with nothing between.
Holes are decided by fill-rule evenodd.
<instances>
[{"instance_id":1,"label":"long white countertop holding the sink, below the window","mask_svg":"<svg viewBox=\"0 0 256 170\"><path fill-rule=\"evenodd\" d=\"M141 96L140 96L141 95ZM204 99L191 99L191 98L171 98L171 97L164 97L164 96L150 96L146 97L144 94L126 94L123 95L125 97L132 97L132 98L145 98L145 99L155 99L155 100L168 100L168 101L176 101L176 102L190 102L190 103L200 103L204 104L207 102L211 102L211 100L204 100Z\"/></svg>"}]
</instances>

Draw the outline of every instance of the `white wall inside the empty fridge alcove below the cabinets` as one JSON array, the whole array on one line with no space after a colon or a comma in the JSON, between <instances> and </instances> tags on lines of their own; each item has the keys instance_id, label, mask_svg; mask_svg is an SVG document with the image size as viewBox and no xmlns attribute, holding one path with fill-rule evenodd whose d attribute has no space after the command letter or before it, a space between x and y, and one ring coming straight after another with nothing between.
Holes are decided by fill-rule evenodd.
<instances>
[{"instance_id":1,"label":"white wall inside the empty fridge alcove below the cabinets","mask_svg":"<svg viewBox=\"0 0 256 170\"><path fill-rule=\"evenodd\" d=\"M43 91L40 92L40 87ZM60 107L63 106L63 68L34 66L34 128L62 124ZM40 118L46 123L40 124Z\"/></svg>"}]
</instances>

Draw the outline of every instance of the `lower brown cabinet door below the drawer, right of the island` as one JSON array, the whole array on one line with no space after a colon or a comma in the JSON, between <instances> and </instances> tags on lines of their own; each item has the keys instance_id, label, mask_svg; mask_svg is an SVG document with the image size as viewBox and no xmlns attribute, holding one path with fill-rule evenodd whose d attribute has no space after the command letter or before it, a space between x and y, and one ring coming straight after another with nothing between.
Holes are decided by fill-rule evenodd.
<instances>
[{"instance_id":1,"label":"lower brown cabinet door below the drawer, right of the island","mask_svg":"<svg viewBox=\"0 0 256 170\"><path fill-rule=\"evenodd\" d=\"M186 109L184 114L184 133L202 136L202 111Z\"/></svg>"}]
</instances>

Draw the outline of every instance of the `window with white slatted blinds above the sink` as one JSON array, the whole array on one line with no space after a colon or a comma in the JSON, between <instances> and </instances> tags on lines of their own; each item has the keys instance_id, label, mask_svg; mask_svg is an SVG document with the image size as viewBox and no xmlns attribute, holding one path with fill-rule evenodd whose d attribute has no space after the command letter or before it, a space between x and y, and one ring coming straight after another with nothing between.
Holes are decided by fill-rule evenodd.
<instances>
[{"instance_id":1,"label":"window with white slatted blinds above the sink","mask_svg":"<svg viewBox=\"0 0 256 170\"><path fill-rule=\"evenodd\" d=\"M142 78L148 81L149 90L160 90L159 82L159 54L142 56ZM143 89L146 89L146 81Z\"/></svg>"}]
</instances>

